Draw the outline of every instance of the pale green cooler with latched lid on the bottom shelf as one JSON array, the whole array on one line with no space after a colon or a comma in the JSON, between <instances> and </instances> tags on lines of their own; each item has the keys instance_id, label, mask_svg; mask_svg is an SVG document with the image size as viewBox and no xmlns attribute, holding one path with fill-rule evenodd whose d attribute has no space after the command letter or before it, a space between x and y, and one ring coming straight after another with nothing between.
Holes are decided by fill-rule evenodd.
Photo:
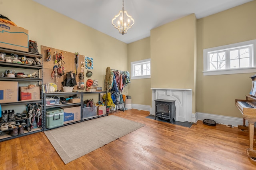
<instances>
[{"instance_id":1,"label":"pale green cooler with latched lid on the bottom shelf","mask_svg":"<svg viewBox=\"0 0 256 170\"><path fill-rule=\"evenodd\" d=\"M64 125L64 111L56 107L46 109L46 128L55 128Z\"/></svg>"}]
</instances>

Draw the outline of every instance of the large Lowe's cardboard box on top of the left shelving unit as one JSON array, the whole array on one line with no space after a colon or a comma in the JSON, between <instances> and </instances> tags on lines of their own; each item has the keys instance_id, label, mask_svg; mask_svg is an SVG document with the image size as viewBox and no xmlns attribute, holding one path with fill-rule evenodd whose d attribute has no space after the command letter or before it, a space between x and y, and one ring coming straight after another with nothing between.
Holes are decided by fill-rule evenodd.
<instances>
[{"instance_id":1,"label":"large Lowe's cardboard box on top of the left shelving unit","mask_svg":"<svg viewBox=\"0 0 256 170\"><path fill-rule=\"evenodd\" d=\"M28 30L0 22L0 47L28 52Z\"/></svg>"}]
</instances>

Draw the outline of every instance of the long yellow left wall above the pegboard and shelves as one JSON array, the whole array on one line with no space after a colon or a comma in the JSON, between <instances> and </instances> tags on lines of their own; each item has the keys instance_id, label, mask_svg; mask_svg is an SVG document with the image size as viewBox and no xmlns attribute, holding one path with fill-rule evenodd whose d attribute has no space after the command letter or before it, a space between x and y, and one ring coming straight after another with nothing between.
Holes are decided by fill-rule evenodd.
<instances>
[{"instance_id":1,"label":"long yellow left wall above the pegboard and shelves","mask_svg":"<svg viewBox=\"0 0 256 170\"><path fill-rule=\"evenodd\" d=\"M92 57L94 69L91 70L93 75L90 79L98 79L102 88L106 67L124 71L128 69L126 43L32 0L1 0L0 8L2 15L28 30L29 39L38 43L39 52L40 45L45 45Z\"/></svg>"}]
</instances>

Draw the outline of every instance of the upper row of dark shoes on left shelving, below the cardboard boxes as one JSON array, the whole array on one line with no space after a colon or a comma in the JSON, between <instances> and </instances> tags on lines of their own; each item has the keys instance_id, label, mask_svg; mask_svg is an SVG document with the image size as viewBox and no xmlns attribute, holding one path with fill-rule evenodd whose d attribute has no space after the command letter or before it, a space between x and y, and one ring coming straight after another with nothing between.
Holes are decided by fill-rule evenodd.
<instances>
[{"instance_id":1,"label":"upper row of dark shoes on left shelving, below the cardboard boxes","mask_svg":"<svg viewBox=\"0 0 256 170\"><path fill-rule=\"evenodd\" d=\"M8 110L8 111L2 111L2 117L0 122L4 123L4 122L11 122L11 121L15 121L15 119L26 119L28 118L26 113L17 113L15 115L14 110Z\"/></svg>"}]
</instances>

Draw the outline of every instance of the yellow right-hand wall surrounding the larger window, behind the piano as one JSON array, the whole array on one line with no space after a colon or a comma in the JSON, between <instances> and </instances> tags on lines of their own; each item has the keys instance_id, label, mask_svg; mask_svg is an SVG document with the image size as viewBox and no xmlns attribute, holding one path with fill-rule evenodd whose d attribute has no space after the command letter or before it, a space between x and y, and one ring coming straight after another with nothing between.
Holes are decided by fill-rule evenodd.
<instances>
[{"instance_id":1,"label":"yellow right-hand wall surrounding the larger window, behind the piano","mask_svg":"<svg viewBox=\"0 0 256 170\"><path fill-rule=\"evenodd\" d=\"M203 76L203 49L254 39L256 1L197 21L197 112L242 117L235 99L245 99L255 73Z\"/></svg>"}]
</instances>

